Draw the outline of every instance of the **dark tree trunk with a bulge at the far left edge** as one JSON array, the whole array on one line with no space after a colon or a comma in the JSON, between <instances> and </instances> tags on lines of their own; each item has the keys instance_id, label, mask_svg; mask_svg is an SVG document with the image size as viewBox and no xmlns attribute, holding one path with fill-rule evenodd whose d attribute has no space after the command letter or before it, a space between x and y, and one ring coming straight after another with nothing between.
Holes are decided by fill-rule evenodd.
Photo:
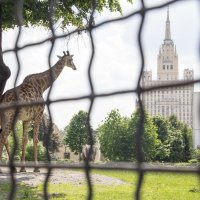
<instances>
[{"instance_id":1,"label":"dark tree trunk with a bulge at the far left edge","mask_svg":"<svg viewBox=\"0 0 200 200\"><path fill-rule=\"evenodd\" d=\"M3 94L6 81L10 77L10 69L5 65L2 55L2 4L0 4L0 99Z\"/></svg>"}]
</instances>

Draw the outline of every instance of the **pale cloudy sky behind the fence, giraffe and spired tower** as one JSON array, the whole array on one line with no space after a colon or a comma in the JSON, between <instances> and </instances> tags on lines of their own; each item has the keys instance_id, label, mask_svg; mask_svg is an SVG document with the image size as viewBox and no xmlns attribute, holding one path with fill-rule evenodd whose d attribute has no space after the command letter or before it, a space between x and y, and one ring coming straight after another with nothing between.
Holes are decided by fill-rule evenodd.
<instances>
[{"instance_id":1,"label":"pale cloudy sky behind the fence, giraffe and spired tower","mask_svg":"<svg viewBox=\"0 0 200 200\"><path fill-rule=\"evenodd\" d=\"M124 15L136 11L140 1L133 5L121 1ZM156 5L161 0L147 0L148 6ZM195 78L199 78L199 5L197 1L185 1L170 6L171 35L177 47L179 56L180 78L183 69L190 68L195 71ZM145 67L153 70L156 78L156 61L160 45L163 43L165 32L167 8L148 13L142 35ZM118 17L119 14L105 11L96 15L97 22ZM140 55L137 46L137 31L140 17L135 16L126 21L110 23L94 31L96 54L92 68L92 79L95 92L111 92L118 89L133 89L137 83L137 75L140 67ZM61 30L57 30L61 33ZM8 30L3 34L3 48L13 47L17 29ZM23 28L20 44L37 42L49 37L50 32L41 27ZM68 45L67 45L68 44ZM50 44L24 49L20 52L21 71L18 79L20 84L28 74L38 73L48 68L48 52ZM70 50L74 54L74 62L77 71L65 68L56 80L51 99L77 97L89 94L87 79L88 61L91 53L89 37L85 33L56 42L51 63L57 62L56 55L62 55L63 50ZM12 53L4 56L5 62L12 70L12 76L7 83L6 89L12 88L16 76L16 59ZM195 90L198 90L196 87ZM48 92L48 91L47 91ZM46 97L47 92L44 96ZM79 110L88 109L89 101L56 103L51 105L53 121L63 129L71 119L72 115ZM96 99L92 110L92 125L97 125L106 117L111 109L117 108L122 115L129 116L135 109L135 95L118 95L114 97Z\"/></svg>"}]
</instances>

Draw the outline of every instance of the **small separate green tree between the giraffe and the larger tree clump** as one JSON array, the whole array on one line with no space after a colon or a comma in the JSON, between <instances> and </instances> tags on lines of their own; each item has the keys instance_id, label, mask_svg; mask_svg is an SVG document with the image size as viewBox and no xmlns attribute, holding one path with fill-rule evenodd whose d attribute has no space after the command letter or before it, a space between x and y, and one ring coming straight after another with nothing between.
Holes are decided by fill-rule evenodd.
<instances>
[{"instance_id":1,"label":"small separate green tree between the giraffe and the larger tree clump","mask_svg":"<svg viewBox=\"0 0 200 200\"><path fill-rule=\"evenodd\" d=\"M90 127L93 133L93 144L95 142L94 131ZM85 144L91 144L91 140L88 134L88 113L85 111L79 111L75 114L69 122L69 125L65 127L65 144L69 146L72 152L79 155L82 152L82 148Z\"/></svg>"}]
</instances>

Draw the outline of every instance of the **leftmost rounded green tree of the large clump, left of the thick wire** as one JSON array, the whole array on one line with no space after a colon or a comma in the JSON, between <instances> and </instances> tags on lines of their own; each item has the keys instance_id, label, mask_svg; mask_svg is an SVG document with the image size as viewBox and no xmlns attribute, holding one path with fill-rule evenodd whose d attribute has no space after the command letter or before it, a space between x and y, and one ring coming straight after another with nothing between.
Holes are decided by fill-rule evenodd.
<instances>
[{"instance_id":1,"label":"leftmost rounded green tree of the large clump, left of the thick wire","mask_svg":"<svg viewBox=\"0 0 200 200\"><path fill-rule=\"evenodd\" d=\"M98 128L100 149L112 161L134 159L133 133L128 131L128 119L118 110L112 110Z\"/></svg>"}]
</instances>

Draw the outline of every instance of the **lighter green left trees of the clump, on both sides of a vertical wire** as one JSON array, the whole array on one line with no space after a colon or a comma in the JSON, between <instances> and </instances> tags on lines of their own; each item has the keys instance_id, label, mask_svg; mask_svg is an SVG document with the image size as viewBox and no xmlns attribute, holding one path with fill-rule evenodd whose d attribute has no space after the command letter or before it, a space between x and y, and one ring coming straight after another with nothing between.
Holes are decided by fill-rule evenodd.
<instances>
[{"instance_id":1,"label":"lighter green left trees of the clump, on both sides of a vertical wire","mask_svg":"<svg viewBox=\"0 0 200 200\"><path fill-rule=\"evenodd\" d=\"M101 151L109 160L135 160L135 134L139 127L140 111L137 110L130 118L120 116L118 110L113 110L105 122L98 128ZM142 147L145 160L152 160L156 154L156 127L152 119L145 113Z\"/></svg>"}]
</instances>

